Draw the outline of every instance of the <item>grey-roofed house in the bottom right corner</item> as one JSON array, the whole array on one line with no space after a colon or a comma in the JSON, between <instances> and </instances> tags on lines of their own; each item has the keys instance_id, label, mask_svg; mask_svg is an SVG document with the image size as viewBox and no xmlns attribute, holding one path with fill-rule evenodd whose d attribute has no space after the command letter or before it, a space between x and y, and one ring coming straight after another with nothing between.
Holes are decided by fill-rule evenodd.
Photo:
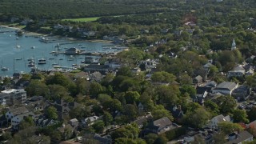
<instances>
[{"instance_id":1,"label":"grey-roofed house in the bottom right corner","mask_svg":"<svg viewBox=\"0 0 256 144\"><path fill-rule=\"evenodd\" d=\"M242 144L244 142L252 142L254 140L253 138L254 136L252 134L244 130L238 134L229 134L229 142L226 142L226 144Z\"/></svg>"}]
</instances>

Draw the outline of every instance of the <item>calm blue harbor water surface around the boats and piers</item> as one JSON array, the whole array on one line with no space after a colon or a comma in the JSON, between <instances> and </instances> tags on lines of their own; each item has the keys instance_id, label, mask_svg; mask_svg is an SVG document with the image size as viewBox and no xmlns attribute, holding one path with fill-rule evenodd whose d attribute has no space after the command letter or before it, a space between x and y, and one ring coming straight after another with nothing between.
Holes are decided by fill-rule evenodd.
<instances>
[{"instance_id":1,"label":"calm blue harbor water surface around the boats and piers","mask_svg":"<svg viewBox=\"0 0 256 144\"><path fill-rule=\"evenodd\" d=\"M3 31L6 30L12 31L3 33ZM81 61L85 58L84 55L74 55L74 61L68 61L69 55L59 54L58 56L54 56L50 54L51 51L57 51L55 46L58 43L61 44L61 51L66 50L64 48L76 47L80 50L86 50L86 52L104 52L102 46L110 45L102 42L75 42L64 38L46 38L54 39L56 41L44 43L40 42L39 38L35 38L34 36L26 34L24 34L22 37L18 37L17 39L14 29L0 27L0 66L9 68L9 70L6 71L0 70L0 76L11 76L14 74L14 72L21 71L29 73L31 70L27 61L29 58L34 58L34 62L36 62L37 67L40 70L52 69L53 63L58 63L60 66L69 67L71 67L72 64L81 64ZM17 48L17 45L19 45L20 48ZM35 48L32 49L32 46ZM85 48L81 48L81 46L84 46ZM111 50L108 50L108 52L110 51ZM38 59L40 58L46 59L45 65L38 65Z\"/></svg>"}]
</instances>

